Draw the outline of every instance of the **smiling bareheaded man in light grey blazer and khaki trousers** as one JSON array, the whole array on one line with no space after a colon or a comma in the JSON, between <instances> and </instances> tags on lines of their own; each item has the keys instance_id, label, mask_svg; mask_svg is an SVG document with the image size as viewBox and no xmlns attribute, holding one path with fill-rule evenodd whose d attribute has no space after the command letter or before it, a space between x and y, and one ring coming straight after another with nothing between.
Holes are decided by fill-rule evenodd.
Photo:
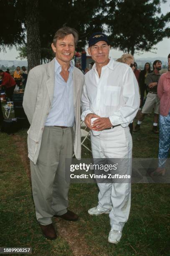
<instances>
[{"instance_id":1,"label":"smiling bareheaded man in light grey blazer and khaki trousers","mask_svg":"<svg viewBox=\"0 0 170 256\"><path fill-rule=\"evenodd\" d=\"M52 217L77 220L67 210L69 182L65 161L73 148L81 158L80 99L83 73L73 66L78 33L73 28L59 29L51 44L56 57L48 64L34 67L28 74L23 108L30 122L30 158L36 218L43 235L56 239Z\"/></svg>"}]
</instances>

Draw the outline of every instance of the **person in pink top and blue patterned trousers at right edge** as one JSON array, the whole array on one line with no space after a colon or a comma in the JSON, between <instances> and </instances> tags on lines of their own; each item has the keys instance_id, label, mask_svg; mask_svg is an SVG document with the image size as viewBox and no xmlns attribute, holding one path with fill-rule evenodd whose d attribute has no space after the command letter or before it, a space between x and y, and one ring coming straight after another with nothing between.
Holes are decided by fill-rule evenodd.
<instances>
[{"instance_id":1,"label":"person in pink top and blue patterned trousers at right edge","mask_svg":"<svg viewBox=\"0 0 170 256\"><path fill-rule=\"evenodd\" d=\"M167 56L170 70L170 54ZM157 86L157 96L160 98L160 138L159 138L159 165L151 176L165 175L165 162L170 150L170 71L162 74Z\"/></svg>"}]
</instances>

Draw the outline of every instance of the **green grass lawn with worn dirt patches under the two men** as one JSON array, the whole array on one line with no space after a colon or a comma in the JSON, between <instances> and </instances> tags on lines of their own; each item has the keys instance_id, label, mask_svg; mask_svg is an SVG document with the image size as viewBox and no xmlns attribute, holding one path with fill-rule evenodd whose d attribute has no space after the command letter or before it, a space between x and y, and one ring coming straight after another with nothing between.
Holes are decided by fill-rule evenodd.
<instances>
[{"instance_id":1,"label":"green grass lawn with worn dirt patches under the two men","mask_svg":"<svg viewBox=\"0 0 170 256\"><path fill-rule=\"evenodd\" d=\"M133 133L133 157L157 158L158 136L151 132L152 115ZM58 238L48 241L36 222L31 194L26 130L0 133L0 247L32 247L35 255L170 255L169 184L132 184L132 206L121 241L108 243L109 216L89 216L97 205L96 184L71 184L69 209L76 223L53 219ZM90 154L83 149L84 158Z\"/></svg>"}]
</instances>

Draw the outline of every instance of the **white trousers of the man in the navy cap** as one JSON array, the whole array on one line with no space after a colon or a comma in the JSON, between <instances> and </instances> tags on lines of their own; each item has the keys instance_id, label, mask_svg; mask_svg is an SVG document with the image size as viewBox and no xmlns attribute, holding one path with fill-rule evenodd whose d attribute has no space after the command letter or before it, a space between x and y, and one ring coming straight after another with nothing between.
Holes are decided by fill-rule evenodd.
<instances>
[{"instance_id":1,"label":"white trousers of the man in the navy cap","mask_svg":"<svg viewBox=\"0 0 170 256\"><path fill-rule=\"evenodd\" d=\"M128 164L124 166L127 175L132 171L132 136L129 127L114 127L104 130L99 136L91 133L91 148L93 158L125 159ZM117 169L119 172L119 168ZM131 183L98 183L99 208L111 210L110 224L114 230L122 230L127 222L130 211Z\"/></svg>"}]
</instances>

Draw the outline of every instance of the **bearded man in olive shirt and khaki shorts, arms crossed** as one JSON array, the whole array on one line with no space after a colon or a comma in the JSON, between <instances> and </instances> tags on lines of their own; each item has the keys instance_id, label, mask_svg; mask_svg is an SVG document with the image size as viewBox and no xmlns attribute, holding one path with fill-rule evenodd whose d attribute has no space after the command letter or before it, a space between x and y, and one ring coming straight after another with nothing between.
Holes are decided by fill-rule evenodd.
<instances>
[{"instance_id":1,"label":"bearded man in olive shirt and khaki shorts, arms crossed","mask_svg":"<svg viewBox=\"0 0 170 256\"><path fill-rule=\"evenodd\" d=\"M157 84L160 79L160 70L162 67L162 62L160 60L155 60L153 62L153 71L149 73L146 77L146 84L148 87L148 94L145 101L145 104L142 108L142 113L140 115L140 118L137 121L137 124L134 128L134 132L137 132L140 130L140 125L145 118L146 114L152 113L152 110L154 108L154 120L153 120L153 127L152 131L156 134L159 133L157 128L157 123L159 119L159 108L160 108L160 99L157 97Z\"/></svg>"}]
</instances>

